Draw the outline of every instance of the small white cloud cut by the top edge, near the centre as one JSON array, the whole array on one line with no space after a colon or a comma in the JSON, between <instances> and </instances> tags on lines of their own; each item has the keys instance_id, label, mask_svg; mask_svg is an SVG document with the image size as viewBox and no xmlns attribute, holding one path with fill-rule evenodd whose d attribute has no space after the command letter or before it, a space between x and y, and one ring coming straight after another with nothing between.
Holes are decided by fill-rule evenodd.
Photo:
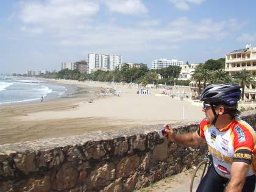
<instances>
[{"instance_id":1,"label":"small white cloud cut by the top edge, near the centre","mask_svg":"<svg viewBox=\"0 0 256 192\"><path fill-rule=\"evenodd\" d=\"M110 12L127 15L140 15L148 13L148 9L141 0L104 0Z\"/></svg>"}]
</instances>

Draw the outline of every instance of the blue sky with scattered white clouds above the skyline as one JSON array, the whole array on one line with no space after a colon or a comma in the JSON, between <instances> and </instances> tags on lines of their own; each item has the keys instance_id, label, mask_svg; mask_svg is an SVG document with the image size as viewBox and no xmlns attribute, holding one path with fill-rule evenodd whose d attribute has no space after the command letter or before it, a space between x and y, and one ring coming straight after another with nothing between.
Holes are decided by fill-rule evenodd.
<instances>
[{"instance_id":1,"label":"blue sky with scattered white clouds above the skyline","mask_svg":"<svg viewBox=\"0 0 256 192\"><path fill-rule=\"evenodd\" d=\"M204 63L256 46L255 0L1 0L0 73L59 70L88 53Z\"/></svg>"}]
</instances>

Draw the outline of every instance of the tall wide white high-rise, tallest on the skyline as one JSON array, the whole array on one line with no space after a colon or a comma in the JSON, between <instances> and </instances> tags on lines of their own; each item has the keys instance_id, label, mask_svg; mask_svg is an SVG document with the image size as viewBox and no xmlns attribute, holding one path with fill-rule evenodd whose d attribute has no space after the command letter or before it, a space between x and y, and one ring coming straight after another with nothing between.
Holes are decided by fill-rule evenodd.
<instances>
[{"instance_id":1,"label":"tall wide white high-rise, tallest on the skyline","mask_svg":"<svg viewBox=\"0 0 256 192\"><path fill-rule=\"evenodd\" d=\"M88 54L88 73L94 68L114 70L122 63L121 55Z\"/></svg>"}]
</instances>

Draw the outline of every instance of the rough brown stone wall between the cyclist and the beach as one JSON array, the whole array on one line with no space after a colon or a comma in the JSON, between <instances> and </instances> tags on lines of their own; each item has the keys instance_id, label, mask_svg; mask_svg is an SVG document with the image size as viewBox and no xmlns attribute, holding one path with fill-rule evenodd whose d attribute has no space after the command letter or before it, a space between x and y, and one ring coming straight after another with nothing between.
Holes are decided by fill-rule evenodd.
<instances>
[{"instance_id":1,"label":"rough brown stone wall between the cyclist and the beach","mask_svg":"<svg viewBox=\"0 0 256 192\"><path fill-rule=\"evenodd\" d=\"M243 119L256 127L256 110ZM198 122L174 124L192 132ZM0 191L133 191L188 169L204 156L159 138L159 126L0 146ZM190 179L190 178L188 178Z\"/></svg>"}]
</instances>

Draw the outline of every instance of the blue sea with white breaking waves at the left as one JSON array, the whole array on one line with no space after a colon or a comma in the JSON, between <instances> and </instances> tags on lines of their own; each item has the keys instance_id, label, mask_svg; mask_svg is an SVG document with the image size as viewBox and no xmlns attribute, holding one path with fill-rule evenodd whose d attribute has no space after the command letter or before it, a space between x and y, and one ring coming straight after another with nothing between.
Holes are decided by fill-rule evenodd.
<instances>
[{"instance_id":1,"label":"blue sea with white breaking waves at the left","mask_svg":"<svg viewBox=\"0 0 256 192\"><path fill-rule=\"evenodd\" d=\"M41 79L0 76L0 105L41 102L65 96L68 88Z\"/></svg>"}]
</instances>

